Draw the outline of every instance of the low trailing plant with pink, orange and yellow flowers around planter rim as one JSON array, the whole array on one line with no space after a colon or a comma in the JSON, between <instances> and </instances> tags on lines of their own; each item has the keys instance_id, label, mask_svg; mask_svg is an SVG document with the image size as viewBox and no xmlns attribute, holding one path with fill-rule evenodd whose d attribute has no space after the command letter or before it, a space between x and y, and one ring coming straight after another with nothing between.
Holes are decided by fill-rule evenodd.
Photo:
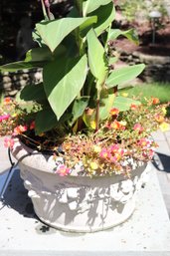
<instances>
[{"instance_id":1,"label":"low trailing plant with pink, orange and yellow flowers around planter rim","mask_svg":"<svg viewBox=\"0 0 170 256\"><path fill-rule=\"evenodd\" d=\"M36 108L28 114L15 101L6 98L0 110L0 130L1 134L18 135L29 146L53 153L54 171L60 175L93 176L112 172L130 175L132 169L152 159L157 144L151 132L168 128L166 107L159 105L157 98L151 98L145 99L144 104L131 104L127 111L112 108L107 120L100 123L96 131L84 129L61 137L55 129L36 134L33 121ZM86 111L90 118L93 110ZM4 142L12 148L15 139L6 137Z\"/></svg>"}]
</instances>

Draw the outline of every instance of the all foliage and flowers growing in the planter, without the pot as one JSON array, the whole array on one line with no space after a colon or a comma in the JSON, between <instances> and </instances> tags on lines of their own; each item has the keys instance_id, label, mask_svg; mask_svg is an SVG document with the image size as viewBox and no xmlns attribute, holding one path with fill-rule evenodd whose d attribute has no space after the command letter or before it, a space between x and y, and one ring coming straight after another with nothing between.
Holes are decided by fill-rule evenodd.
<instances>
[{"instance_id":1,"label":"all foliage and flowers growing in the planter, without the pot","mask_svg":"<svg viewBox=\"0 0 170 256\"><path fill-rule=\"evenodd\" d=\"M21 92L29 107L5 100L1 130L11 129L29 146L54 153L60 175L128 174L152 157L155 143L149 137L166 126L164 113L158 99L144 105L118 95L144 65L114 69L110 42L121 35L137 43L137 37L133 30L111 28L112 0L75 2L66 18L54 20L49 1L42 0L45 20L34 31L39 47L24 61L0 67L43 69L43 81Z\"/></svg>"}]
</instances>

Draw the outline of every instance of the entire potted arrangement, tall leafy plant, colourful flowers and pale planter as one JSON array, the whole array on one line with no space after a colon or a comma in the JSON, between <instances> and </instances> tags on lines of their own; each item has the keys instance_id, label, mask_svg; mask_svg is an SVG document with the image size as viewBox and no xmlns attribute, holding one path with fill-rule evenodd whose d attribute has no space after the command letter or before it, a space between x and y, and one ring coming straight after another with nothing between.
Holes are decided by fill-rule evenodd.
<instances>
[{"instance_id":1,"label":"entire potted arrangement, tall leafy plant, colourful flowers and pale planter","mask_svg":"<svg viewBox=\"0 0 170 256\"><path fill-rule=\"evenodd\" d=\"M112 40L137 37L112 29L111 0L77 0L58 20L48 1L42 6L45 20L33 33L39 47L24 61L0 67L43 69L42 83L22 90L22 104L5 99L0 124L13 129L5 143L42 221L67 231L103 230L132 214L156 145L150 134L166 127L166 106L119 96L144 65L113 69Z\"/></svg>"}]
</instances>

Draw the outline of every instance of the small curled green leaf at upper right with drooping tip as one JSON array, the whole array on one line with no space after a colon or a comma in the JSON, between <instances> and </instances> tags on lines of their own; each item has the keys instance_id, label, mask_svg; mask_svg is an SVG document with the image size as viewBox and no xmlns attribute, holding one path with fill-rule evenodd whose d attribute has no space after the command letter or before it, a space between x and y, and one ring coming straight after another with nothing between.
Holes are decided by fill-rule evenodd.
<instances>
[{"instance_id":1,"label":"small curled green leaf at upper right with drooping tip","mask_svg":"<svg viewBox=\"0 0 170 256\"><path fill-rule=\"evenodd\" d=\"M137 33L134 29L129 29L126 31L122 31L120 29L110 29L107 40L115 40L119 36L126 37L129 41L135 43L136 45L139 43Z\"/></svg>"}]
</instances>

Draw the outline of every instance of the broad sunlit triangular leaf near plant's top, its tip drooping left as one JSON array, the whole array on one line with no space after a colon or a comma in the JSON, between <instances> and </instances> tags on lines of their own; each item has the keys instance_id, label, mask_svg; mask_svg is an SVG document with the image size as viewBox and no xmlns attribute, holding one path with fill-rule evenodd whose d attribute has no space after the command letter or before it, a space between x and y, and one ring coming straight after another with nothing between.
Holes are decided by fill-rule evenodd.
<instances>
[{"instance_id":1,"label":"broad sunlit triangular leaf near plant's top, its tip drooping left","mask_svg":"<svg viewBox=\"0 0 170 256\"><path fill-rule=\"evenodd\" d=\"M54 52L64 38L90 19L93 22L93 17L63 18L60 20L39 23L36 25L36 29L45 44L52 52Z\"/></svg>"}]
</instances>

